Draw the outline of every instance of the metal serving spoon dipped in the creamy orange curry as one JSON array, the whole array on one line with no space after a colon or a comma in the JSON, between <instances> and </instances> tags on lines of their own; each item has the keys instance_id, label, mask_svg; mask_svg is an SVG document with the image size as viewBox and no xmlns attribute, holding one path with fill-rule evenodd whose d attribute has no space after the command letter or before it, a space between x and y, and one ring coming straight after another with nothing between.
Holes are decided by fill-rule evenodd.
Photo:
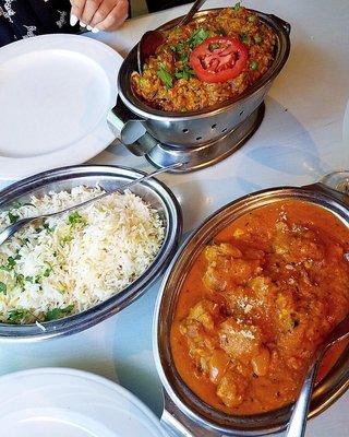
<instances>
[{"instance_id":1,"label":"metal serving spoon dipped in the creamy orange curry","mask_svg":"<svg viewBox=\"0 0 349 437\"><path fill-rule=\"evenodd\" d=\"M308 410L320 363L322 362L322 358L324 357L324 354L328 347L347 338L349 338L349 314L339 324L337 324L337 327L329 333L327 339L316 351L314 361L305 376L298 401L294 404L285 437L304 436Z\"/></svg>"}]
</instances>

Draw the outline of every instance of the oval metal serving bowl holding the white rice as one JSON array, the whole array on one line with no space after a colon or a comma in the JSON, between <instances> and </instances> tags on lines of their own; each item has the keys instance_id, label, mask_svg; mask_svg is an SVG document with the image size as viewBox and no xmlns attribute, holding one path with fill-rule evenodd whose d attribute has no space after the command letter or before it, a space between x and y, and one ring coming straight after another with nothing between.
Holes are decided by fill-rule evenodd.
<instances>
[{"instance_id":1,"label":"oval metal serving bowl holding the white rice","mask_svg":"<svg viewBox=\"0 0 349 437\"><path fill-rule=\"evenodd\" d=\"M33 194L41 197L49 191L71 190L80 185L94 187L98 184L106 190L115 189L142 176L144 176L143 172L115 166L82 165L58 168L21 180L2 190L0 211L8 210L14 202L28 202ZM59 320L40 323L45 330L36 324L0 323L0 340L35 341L82 331L132 304L158 277L174 255L181 237L181 208L172 192L157 179L135 185L131 191L158 211L166 227L163 246L148 269L120 293L93 308Z\"/></svg>"}]
</instances>

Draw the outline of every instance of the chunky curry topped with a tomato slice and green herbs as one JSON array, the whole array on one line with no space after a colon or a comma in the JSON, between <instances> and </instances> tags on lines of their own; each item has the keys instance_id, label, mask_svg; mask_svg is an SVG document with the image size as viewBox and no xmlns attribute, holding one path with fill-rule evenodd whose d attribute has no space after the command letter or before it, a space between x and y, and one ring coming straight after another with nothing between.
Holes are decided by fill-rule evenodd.
<instances>
[{"instance_id":1,"label":"chunky curry topped with a tomato slice and green herbs","mask_svg":"<svg viewBox=\"0 0 349 437\"><path fill-rule=\"evenodd\" d=\"M163 44L131 82L136 95L166 111L203 109L236 97L273 60L274 32L240 3L163 34Z\"/></svg>"}]
</instances>

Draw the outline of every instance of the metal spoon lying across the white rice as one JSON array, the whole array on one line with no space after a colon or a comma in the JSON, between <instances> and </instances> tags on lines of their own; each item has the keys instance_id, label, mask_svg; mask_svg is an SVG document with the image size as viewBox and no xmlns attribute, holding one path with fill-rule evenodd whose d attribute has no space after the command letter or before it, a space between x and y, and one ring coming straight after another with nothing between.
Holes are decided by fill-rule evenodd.
<instances>
[{"instance_id":1,"label":"metal spoon lying across the white rice","mask_svg":"<svg viewBox=\"0 0 349 437\"><path fill-rule=\"evenodd\" d=\"M96 201L98 201L100 199L104 199L107 196L113 194L115 192L122 192L124 190L128 190L129 188L133 187L134 185L137 185L140 182L144 182L145 180L151 179L154 176L157 176L157 175L159 175L161 173L168 172L168 170L170 170L172 168L178 168L178 167L180 167L182 165L184 165L184 163L176 163L176 164L169 165L167 167L159 168L159 169L157 169L157 170L155 170L153 173L149 173L148 175L142 176L139 179L134 179L131 182L124 184L119 188L106 191L103 194L96 196L95 198L88 199L88 200L86 200L86 201L84 201L82 203L77 203L76 205L67 208L65 210L52 212L50 214L36 215L34 217L21 218L17 222L15 222L15 223L11 224L10 226L5 227L0 233L0 245L2 245L8 238L10 238L13 234L15 234L22 227L28 225L32 222L35 222L37 220L44 220L44 218L48 218L48 217L53 217L56 215L65 214L65 213L71 212L71 211L76 211L76 210L79 210L79 209L81 209L83 206L87 206L91 203L94 203L94 202L96 202Z\"/></svg>"}]
</instances>

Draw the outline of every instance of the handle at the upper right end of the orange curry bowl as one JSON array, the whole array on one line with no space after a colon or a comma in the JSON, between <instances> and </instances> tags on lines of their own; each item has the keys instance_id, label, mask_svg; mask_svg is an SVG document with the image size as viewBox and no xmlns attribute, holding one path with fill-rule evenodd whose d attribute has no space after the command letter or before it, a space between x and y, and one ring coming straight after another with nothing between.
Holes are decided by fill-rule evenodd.
<instances>
[{"instance_id":1,"label":"handle at the upper right end of the orange curry bowl","mask_svg":"<svg viewBox=\"0 0 349 437\"><path fill-rule=\"evenodd\" d=\"M324 191L349 206L349 170L325 175L318 182L303 187Z\"/></svg>"}]
</instances>

